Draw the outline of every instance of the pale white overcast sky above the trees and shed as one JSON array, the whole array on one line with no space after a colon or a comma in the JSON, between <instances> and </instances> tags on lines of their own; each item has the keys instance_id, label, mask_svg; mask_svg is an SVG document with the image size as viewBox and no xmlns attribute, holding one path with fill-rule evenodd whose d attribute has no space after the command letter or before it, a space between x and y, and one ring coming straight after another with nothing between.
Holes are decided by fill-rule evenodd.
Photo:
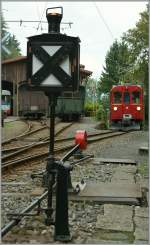
<instances>
[{"instance_id":1,"label":"pale white overcast sky above the trees and shed","mask_svg":"<svg viewBox=\"0 0 150 245\"><path fill-rule=\"evenodd\" d=\"M16 36L22 55L26 55L27 37L47 33L47 23L40 24L40 20L46 21L46 9L62 6L62 22L73 24L71 28L68 24L61 24L61 33L80 38L80 64L93 72L92 78L99 79L110 46L116 39L119 41L124 32L135 27L139 13L146 9L146 3L147 1L2 1L2 11L5 21L39 21L23 22L21 25L7 22L8 31Z\"/></svg>"}]
</instances>

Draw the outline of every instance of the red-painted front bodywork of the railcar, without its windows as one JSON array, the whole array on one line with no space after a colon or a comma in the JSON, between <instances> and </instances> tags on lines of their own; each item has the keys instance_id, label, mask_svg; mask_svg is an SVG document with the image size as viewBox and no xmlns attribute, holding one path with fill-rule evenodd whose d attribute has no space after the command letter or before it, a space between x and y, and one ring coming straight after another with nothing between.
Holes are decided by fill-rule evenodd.
<instances>
[{"instance_id":1,"label":"red-painted front bodywork of the railcar, without its windows","mask_svg":"<svg viewBox=\"0 0 150 245\"><path fill-rule=\"evenodd\" d=\"M114 103L114 92L122 93L122 102ZM123 94L125 91L130 93L130 103L125 104L123 102ZM131 92L140 91L140 103L133 104ZM137 107L140 106L141 110L137 111ZM117 107L117 111L114 111L114 107ZM110 121L118 121L123 119L123 114L131 114L132 120L143 121L144 119L144 104L143 104L143 88L140 85L116 85L113 86L110 91Z\"/></svg>"}]
</instances>

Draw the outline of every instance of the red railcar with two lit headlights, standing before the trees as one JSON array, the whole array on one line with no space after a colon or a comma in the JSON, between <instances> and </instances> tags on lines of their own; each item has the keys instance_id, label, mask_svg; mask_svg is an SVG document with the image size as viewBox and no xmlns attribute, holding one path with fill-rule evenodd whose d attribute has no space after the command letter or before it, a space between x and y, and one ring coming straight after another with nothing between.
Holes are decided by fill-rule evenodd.
<instances>
[{"instance_id":1,"label":"red railcar with two lit headlights, standing before the trees","mask_svg":"<svg viewBox=\"0 0 150 245\"><path fill-rule=\"evenodd\" d=\"M143 88L140 85L116 85L110 91L110 125L136 126L144 120Z\"/></svg>"}]
</instances>

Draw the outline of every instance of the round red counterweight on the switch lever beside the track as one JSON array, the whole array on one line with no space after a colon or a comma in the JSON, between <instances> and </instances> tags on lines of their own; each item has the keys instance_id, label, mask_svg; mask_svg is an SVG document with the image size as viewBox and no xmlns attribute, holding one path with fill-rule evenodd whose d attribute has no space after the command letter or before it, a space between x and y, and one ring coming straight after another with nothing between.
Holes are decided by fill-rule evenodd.
<instances>
[{"instance_id":1,"label":"round red counterweight on the switch lever beside the track","mask_svg":"<svg viewBox=\"0 0 150 245\"><path fill-rule=\"evenodd\" d=\"M80 149L84 150L87 147L87 133L85 130L77 130L75 134L75 144L80 145Z\"/></svg>"}]
</instances>

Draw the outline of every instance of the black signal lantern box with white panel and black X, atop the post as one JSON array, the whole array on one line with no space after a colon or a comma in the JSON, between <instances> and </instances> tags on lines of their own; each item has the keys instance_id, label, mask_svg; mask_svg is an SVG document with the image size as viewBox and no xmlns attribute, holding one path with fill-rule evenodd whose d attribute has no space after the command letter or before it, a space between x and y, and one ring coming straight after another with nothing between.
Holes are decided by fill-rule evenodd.
<instances>
[{"instance_id":1,"label":"black signal lantern box with white panel and black X, atop the post","mask_svg":"<svg viewBox=\"0 0 150 245\"><path fill-rule=\"evenodd\" d=\"M28 83L35 90L50 93L76 91L80 81L80 39L60 33L62 7L48 8L46 17L48 33L28 37Z\"/></svg>"}]
</instances>

